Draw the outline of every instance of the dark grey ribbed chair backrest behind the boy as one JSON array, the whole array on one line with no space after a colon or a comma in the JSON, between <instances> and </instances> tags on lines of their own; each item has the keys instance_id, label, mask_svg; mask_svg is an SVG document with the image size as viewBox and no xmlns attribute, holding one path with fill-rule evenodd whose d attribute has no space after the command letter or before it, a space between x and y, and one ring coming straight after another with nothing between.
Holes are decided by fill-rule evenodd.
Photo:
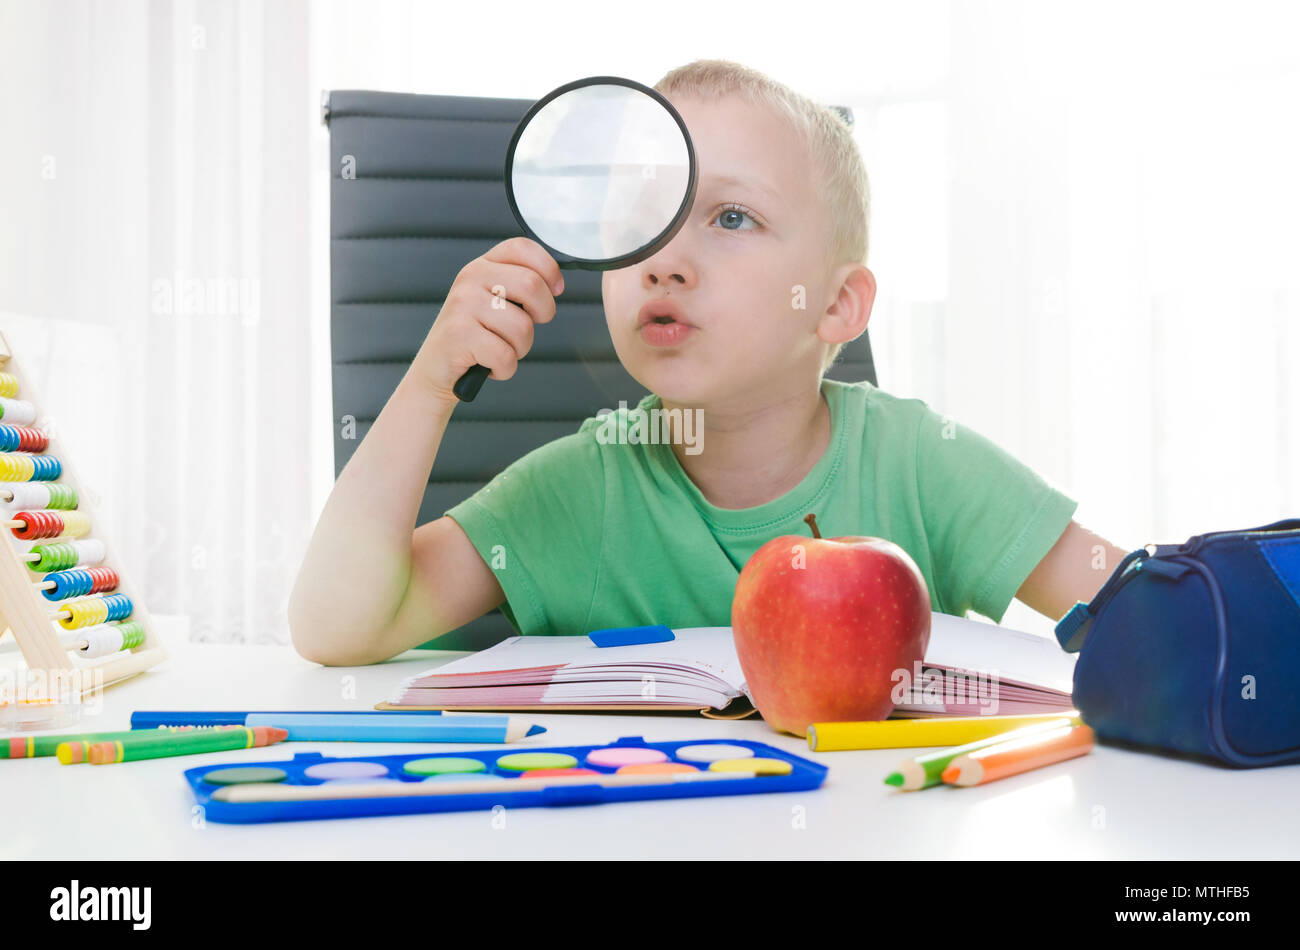
<instances>
[{"instance_id":1,"label":"dark grey ribbed chair backrest behind the boy","mask_svg":"<svg viewBox=\"0 0 1300 950\"><path fill-rule=\"evenodd\" d=\"M503 172L511 133L533 101L326 94L335 477L411 364L460 269L521 234ZM875 383L866 334L844 347L827 376ZM441 517L588 416L618 408L619 400L636 405L645 395L614 352L601 276L567 270L556 318L538 331L516 374L504 383L488 379L452 416L417 524ZM437 646L480 650L514 633L495 610Z\"/></svg>"}]
</instances>

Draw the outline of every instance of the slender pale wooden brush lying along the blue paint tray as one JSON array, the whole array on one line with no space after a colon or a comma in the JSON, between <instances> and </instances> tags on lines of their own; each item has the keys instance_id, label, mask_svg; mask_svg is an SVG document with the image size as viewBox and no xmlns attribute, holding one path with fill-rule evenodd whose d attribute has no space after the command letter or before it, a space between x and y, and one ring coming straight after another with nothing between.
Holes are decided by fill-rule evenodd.
<instances>
[{"instance_id":1,"label":"slender pale wooden brush lying along the blue paint tray","mask_svg":"<svg viewBox=\"0 0 1300 950\"><path fill-rule=\"evenodd\" d=\"M551 776L546 778L508 778L506 781L463 782L324 782L321 785L270 785L250 782L225 785L212 793L222 802L309 802L334 798L407 798L421 795L469 795L478 791L538 791L560 785L670 785L673 782L711 782L728 778L753 778L754 772L664 772L660 775Z\"/></svg>"}]
</instances>

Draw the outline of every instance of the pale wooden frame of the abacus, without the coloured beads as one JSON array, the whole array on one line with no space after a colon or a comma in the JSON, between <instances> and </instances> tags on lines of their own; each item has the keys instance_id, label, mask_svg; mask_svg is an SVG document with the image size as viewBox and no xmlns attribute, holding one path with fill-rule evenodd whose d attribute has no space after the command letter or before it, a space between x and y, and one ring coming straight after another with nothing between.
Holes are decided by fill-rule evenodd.
<instances>
[{"instance_id":1,"label":"pale wooden frame of the abacus, without the coloured beads","mask_svg":"<svg viewBox=\"0 0 1300 950\"><path fill-rule=\"evenodd\" d=\"M31 426L40 429L49 441L42 455L51 455L58 459L62 468L61 474L55 481L70 486L77 493L77 509L83 511L91 521L91 533L86 537L95 538L104 545L104 560L101 567L110 567L117 572L118 584L113 593L125 594L131 600L131 613L129 620L136 621L144 629L144 641L129 651L117 652L110 656L83 659L75 656L73 651L60 642L58 633L62 628L49 619L52 611L57 610L58 600L48 600L38 590L39 574L32 572L29 561L22 559L32 542L16 538L13 532L4 529L6 542L0 551L0 635L8 626L18 641L23 659L31 671L44 671L46 676L66 676L82 671L91 685L78 690L90 691L99 686L118 682L129 676L166 659L166 651L159 639L150 619L148 611L140 598L136 597L121 563L114 556L113 545L104 537L100 526L103 522L98 517L95 506L91 503L88 493L77 469L73 468L68 450L53 434L42 426L40 400L31 385L31 378L22 370L21 361L14 356L9 340L0 333L0 372L9 373L18 379L18 394L14 399L31 403L36 408L36 418ZM9 420L0 418L0 424L10 424ZM0 511L12 513L10 506L0 499ZM8 520L8 519L6 519ZM47 543L58 543L65 538L43 539ZM42 542L35 542L42 543ZM73 598L75 599L75 598ZM77 680L69 677L73 682Z\"/></svg>"}]
</instances>

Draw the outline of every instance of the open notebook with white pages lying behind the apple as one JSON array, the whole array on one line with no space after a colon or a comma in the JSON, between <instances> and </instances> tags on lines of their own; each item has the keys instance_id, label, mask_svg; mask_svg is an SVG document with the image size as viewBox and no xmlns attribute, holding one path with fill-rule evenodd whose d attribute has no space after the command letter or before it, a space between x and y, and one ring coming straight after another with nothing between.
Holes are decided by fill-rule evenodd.
<instances>
[{"instance_id":1,"label":"open notebook with white pages lying behind the apple","mask_svg":"<svg viewBox=\"0 0 1300 950\"><path fill-rule=\"evenodd\" d=\"M511 637L403 680L377 710L754 713L729 626L673 630L666 643L598 647L588 637ZM920 676L894 716L1057 712L1072 707L1074 654L1054 639L933 613Z\"/></svg>"}]
</instances>

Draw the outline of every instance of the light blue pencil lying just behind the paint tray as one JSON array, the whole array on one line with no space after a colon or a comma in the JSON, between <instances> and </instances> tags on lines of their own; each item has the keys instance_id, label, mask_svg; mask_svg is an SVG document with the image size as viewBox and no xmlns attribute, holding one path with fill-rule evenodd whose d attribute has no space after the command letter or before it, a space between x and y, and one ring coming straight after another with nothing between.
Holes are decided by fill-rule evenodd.
<instances>
[{"instance_id":1,"label":"light blue pencil lying just behind the paint tray","mask_svg":"<svg viewBox=\"0 0 1300 950\"><path fill-rule=\"evenodd\" d=\"M250 712L244 725L274 725L289 738L309 742L516 742L546 732L517 716L433 716L376 712L334 716L320 712Z\"/></svg>"}]
</instances>

